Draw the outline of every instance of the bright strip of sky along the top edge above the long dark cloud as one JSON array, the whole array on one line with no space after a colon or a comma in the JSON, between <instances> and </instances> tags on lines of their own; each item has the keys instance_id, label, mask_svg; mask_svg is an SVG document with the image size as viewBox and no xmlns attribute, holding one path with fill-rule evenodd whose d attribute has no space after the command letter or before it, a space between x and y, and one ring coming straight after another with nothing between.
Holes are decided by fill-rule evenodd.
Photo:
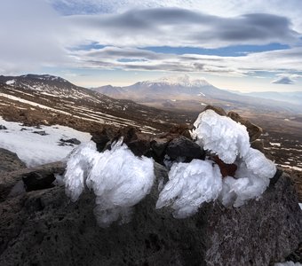
<instances>
[{"instance_id":1,"label":"bright strip of sky along the top edge above the long dark cloud","mask_svg":"<svg viewBox=\"0 0 302 266\"><path fill-rule=\"evenodd\" d=\"M300 0L45 0L63 14L121 13L133 8L178 7L221 17L244 13L272 13L289 18L295 30L302 32Z\"/></svg>"}]
</instances>

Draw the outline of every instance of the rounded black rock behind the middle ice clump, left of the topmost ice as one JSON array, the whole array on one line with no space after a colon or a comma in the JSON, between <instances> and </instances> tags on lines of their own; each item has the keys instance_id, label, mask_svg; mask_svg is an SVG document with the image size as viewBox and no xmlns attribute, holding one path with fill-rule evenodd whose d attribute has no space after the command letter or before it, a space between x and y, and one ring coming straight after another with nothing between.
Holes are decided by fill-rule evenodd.
<instances>
[{"instance_id":1,"label":"rounded black rock behind the middle ice clump, left of the topmost ice","mask_svg":"<svg viewBox=\"0 0 302 266\"><path fill-rule=\"evenodd\" d=\"M186 161L204 159L205 152L194 141L187 137L179 136L171 140L166 148L166 153L172 160L178 157L186 157Z\"/></svg>"}]
</instances>

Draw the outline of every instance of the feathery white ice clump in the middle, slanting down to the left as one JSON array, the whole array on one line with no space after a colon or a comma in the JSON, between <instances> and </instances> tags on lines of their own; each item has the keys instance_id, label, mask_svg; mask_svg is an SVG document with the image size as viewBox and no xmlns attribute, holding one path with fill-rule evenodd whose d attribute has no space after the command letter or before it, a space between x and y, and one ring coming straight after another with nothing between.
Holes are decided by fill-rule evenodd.
<instances>
[{"instance_id":1,"label":"feathery white ice clump in the middle, slanting down to the left","mask_svg":"<svg viewBox=\"0 0 302 266\"><path fill-rule=\"evenodd\" d=\"M222 186L219 166L211 160L174 163L156 208L171 206L176 218L194 215L203 202L216 200Z\"/></svg>"}]
</instances>

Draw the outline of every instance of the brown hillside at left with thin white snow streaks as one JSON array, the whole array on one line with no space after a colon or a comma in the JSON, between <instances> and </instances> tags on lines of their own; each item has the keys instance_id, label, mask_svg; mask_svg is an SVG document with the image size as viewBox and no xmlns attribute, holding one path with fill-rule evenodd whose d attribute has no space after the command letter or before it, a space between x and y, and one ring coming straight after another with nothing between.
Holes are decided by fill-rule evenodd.
<instances>
[{"instance_id":1,"label":"brown hillside at left with thin white snow streaks","mask_svg":"<svg viewBox=\"0 0 302 266\"><path fill-rule=\"evenodd\" d=\"M17 121L34 117L37 121L54 121L53 117L60 115L65 117L61 121L80 119L115 127L134 126L149 133L179 121L179 115L169 112L163 113L159 121L155 108L109 98L49 74L0 76L0 116L5 112ZM186 121L186 115L181 120Z\"/></svg>"}]
</instances>

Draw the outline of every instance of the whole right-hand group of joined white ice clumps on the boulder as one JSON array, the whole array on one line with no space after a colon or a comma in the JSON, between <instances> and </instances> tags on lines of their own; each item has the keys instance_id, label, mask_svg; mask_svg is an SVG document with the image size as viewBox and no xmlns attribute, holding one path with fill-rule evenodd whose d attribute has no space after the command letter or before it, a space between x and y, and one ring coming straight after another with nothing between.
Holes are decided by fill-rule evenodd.
<instances>
[{"instance_id":1,"label":"whole right-hand group of joined white ice clumps on the boulder","mask_svg":"<svg viewBox=\"0 0 302 266\"><path fill-rule=\"evenodd\" d=\"M194 125L196 142L224 162L236 164L235 175L222 179L219 166L211 160L174 163L156 207L171 205L174 216L183 218L195 214L203 202L218 197L223 205L234 207L258 199L276 168L263 153L250 148L246 128L212 110L199 114Z\"/></svg>"}]
</instances>

